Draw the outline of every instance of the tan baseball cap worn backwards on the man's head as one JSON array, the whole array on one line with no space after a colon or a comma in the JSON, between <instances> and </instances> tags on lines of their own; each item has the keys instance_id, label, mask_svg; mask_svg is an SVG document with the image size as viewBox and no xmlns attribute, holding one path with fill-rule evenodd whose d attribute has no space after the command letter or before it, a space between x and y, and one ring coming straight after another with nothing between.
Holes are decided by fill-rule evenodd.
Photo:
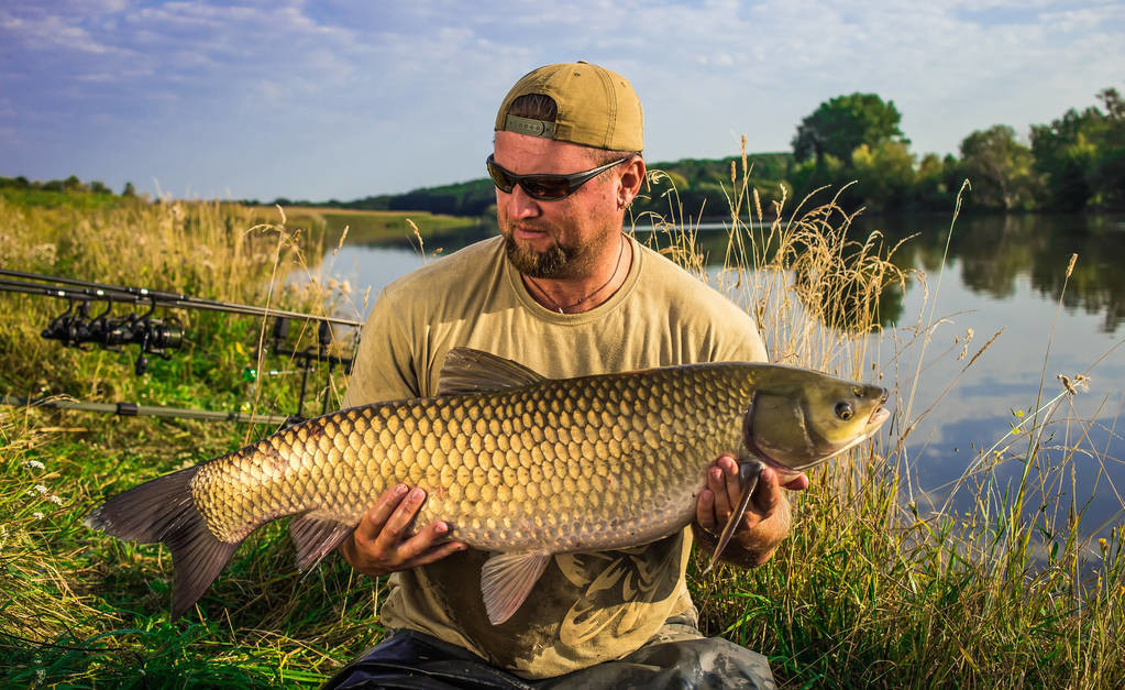
<instances>
[{"instance_id":1,"label":"tan baseball cap worn backwards on the man's head","mask_svg":"<svg viewBox=\"0 0 1125 690\"><path fill-rule=\"evenodd\" d=\"M555 100L555 122L508 115L520 96L541 93ZM550 64L515 82L496 114L496 132L515 132L609 151L645 149L645 116L629 81L584 61Z\"/></svg>"}]
</instances>

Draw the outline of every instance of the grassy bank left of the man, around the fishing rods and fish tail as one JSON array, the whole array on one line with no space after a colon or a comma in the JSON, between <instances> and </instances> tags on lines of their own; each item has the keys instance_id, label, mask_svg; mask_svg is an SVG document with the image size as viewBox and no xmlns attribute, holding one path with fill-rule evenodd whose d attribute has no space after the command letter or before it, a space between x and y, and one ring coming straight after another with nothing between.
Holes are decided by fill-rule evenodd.
<instances>
[{"instance_id":1,"label":"grassy bank left of the man, around the fishing rods and fish tail","mask_svg":"<svg viewBox=\"0 0 1125 690\"><path fill-rule=\"evenodd\" d=\"M233 205L136 205L80 215L0 199L0 235L14 239L0 244L0 265L22 270L306 312L331 308L339 297L318 286L284 287L290 270L318 260L317 236L258 225ZM39 338L64 303L6 294L0 306L7 315L0 391L7 394L296 410L297 377L262 377L253 387L242 378L246 366L295 368L255 357L268 328L259 320L179 312L184 346L169 361L151 358L148 374L137 377L135 348L79 352ZM305 347L310 337L292 344ZM323 371L312 380L323 385ZM334 394L342 389L339 377L332 385ZM318 394L314 387L306 409L318 410L310 400ZM179 685L189 678L201 687L315 684L381 634L372 612L382 584L356 577L335 559L307 579L291 575L292 549L280 526L252 537L195 620L176 624L166 615L168 554L82 526L107 495L268 431L0 407L0 684Z\"/></svg>"}]
</instances>

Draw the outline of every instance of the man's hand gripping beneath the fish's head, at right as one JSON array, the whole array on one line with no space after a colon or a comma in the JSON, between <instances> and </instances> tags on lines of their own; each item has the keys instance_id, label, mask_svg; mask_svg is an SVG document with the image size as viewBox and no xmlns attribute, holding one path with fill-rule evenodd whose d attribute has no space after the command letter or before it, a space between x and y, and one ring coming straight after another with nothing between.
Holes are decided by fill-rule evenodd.
<instances>
[{"instance_id":1,"label":"man's hand gripping beneath the fish's head, at right","mask_svg":"<svg viewBox=\"0 0 1125 690\"><path fill-rule=\"evenodd\" d=\"M754 489L750 503L742 514L741 523L724 552L735 563L760 565L773 556L777 545L789 534L790 509L789 500L782 492L782 486L792 491L803 491L809 486L809 477L799 474L785 484L781 484L777 472L764 467L758 475L758 484ZM700 493L695 503L695 521L698 527L718 539L727 520L738 508L741 498L741 485L738 481L738 463L730 456L722 456L708 469L706 489ZM731 552L740 549L744 554ZM741 556L741 557L739 557Z\"/></svg>"}]
</instances>

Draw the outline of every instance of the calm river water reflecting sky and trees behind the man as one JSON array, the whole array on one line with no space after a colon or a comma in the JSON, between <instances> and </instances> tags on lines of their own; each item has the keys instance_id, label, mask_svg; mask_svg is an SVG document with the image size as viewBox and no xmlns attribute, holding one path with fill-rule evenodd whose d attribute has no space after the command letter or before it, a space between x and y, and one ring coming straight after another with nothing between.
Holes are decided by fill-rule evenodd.
<instances>
[{"instance_id":1,"label":"calm river water reflecting sky and trees behind the man","mask_svg":"<svg viewBox=\"0 0 1125 690\"><path fill-rule=\"evenodd\" d=\"M703 227L702 249L721 261L726 233L721 226ZM948 227L947 217L884 216L856 225L861 236L879 230L892 244L917 234L901 245L894 260L901 268L919 269L927 276L928 301L927 290L911 283L904 294L884 305L884 333L873 335L904 341L909 329L919 323L919 314L925 310L928 315L934 308L936 325L922 358L914 416L933 410L908 437L902 456L912 485L918 495L939 502L948 483L978 460L981 449L998 442L1001 448L1011 445L1009 430L1034 410L1041 375L1042 400L1048 401L1063 391L1058 374L1070 378L1083 374L1089 376L1088 389L1062 402L1042 438L1047 446L1077 446L1078 451L1051 451L1054 467L1047 481L1060 483L1068 505L1073 499L1078 509L1087 511L1083 532L1107 532L1125 514L1125 216L962 217L953 230L943 272ZM459 247L456 241L429 244L428 252L441 247L450 253ZM1078 261L1063 293L1072 253ZM351 308L363 314L368 287L374 301L384 286L422 263L417 250L408 247L345 244L323 272L324 278L350 281ZM935 292L938 275L940 287ZM951 388L968 362L968 358L956 358L962 344L955 339L969 329L975 333L969 357L997 331L1002 332ZM880 348L886 352L884 366L893 350L885 343ZM914 378L914 361L917 357L904 376L908 380ZM901 361L899 368L901 373ZM888 371L884 385L893 380ZM904 400L908 391L892 395ZM1011 451L1026 449L1026 438L1016 441ZM1018 460L1001 464L996 474L997 495L1018 481L1022 472ZM962 501L968 501L968 494L958 494L955 505ZM1062 514L1068 505L1062 507Z\"/></svg>"}]
</instances>

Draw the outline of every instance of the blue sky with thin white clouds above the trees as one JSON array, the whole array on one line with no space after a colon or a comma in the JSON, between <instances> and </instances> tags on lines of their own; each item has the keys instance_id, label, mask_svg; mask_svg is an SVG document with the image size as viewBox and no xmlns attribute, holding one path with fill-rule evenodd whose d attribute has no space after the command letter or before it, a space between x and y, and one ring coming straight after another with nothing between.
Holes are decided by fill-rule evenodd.
<instances>
[{"instance_id":1,"label":"blue sky with thin white clouds above the trees","mask_svg":"<svg viewBox=\"0 0 1125 690\"><path fill-rule=\"evenodd\" d=\"M1125 90L1125 5L0 0L0 176L267 200L479 178L507 89L573 60L633 83L649 161L789 150L853 91L944 154Z\"/></svg>"}]
</instances>

